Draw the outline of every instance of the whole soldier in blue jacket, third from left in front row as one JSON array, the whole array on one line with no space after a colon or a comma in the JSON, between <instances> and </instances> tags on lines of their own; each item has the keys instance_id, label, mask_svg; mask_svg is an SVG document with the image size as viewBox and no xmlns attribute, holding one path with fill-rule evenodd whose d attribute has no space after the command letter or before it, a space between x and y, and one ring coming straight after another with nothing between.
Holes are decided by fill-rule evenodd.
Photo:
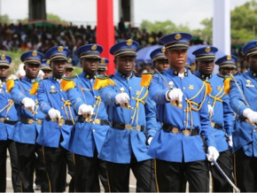
<instances>
[{"instance_id":1,"label":"whole soldier in blue jacket, third from left in front row","mask_svg":"<svg viewBox=\"0 0 257 193\"><path fill-rule=\"evenodd\" d=\"M66 72L66 61L70 50L62 46L47 50L45 57L50 60L52 76L40 81L37 89L40 108L45 114L43 129L37 143L43 145L46 171L49 177L50 191L65 191L66 164L72 180L69 191L74 191L74 165L72 153L60 146L74 126L74 109L67 94L60 89L61 77Z\"/></svg>"}]
</instances>

